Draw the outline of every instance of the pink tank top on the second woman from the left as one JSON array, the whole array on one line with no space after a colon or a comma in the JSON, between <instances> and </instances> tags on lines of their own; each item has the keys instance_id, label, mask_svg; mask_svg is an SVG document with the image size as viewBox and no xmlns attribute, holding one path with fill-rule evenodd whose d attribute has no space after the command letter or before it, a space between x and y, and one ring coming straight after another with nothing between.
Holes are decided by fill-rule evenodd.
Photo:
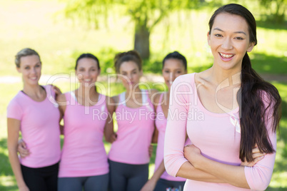
<instances>
[{"instance_id":1,"label":"pink tank top on the second woman from the left","mask_svg":"<svg viewBox=\"0 0 287 191\"><path fill-rule=\"evenodd\" d=\"M64 145L59 177L105 175L109 172L103 136L106 119L106 96L92 106L77 102L74 92L65 93Z\"/></svg>"}]
</instances>

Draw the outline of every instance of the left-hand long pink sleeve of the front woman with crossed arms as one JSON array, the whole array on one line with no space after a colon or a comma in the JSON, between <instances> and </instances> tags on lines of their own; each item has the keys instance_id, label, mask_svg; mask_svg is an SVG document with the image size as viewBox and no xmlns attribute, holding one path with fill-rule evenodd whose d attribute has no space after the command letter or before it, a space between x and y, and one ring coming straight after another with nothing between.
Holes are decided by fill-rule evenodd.
<instances>
[{"instance_id":1,"label":"left-hand long pink sleeve of the front woman with crossed arms","mask_svg":"<svg viewBox=\"0 0 287 191\"><path fill-rule=\"evenodd\" d=\"M184 77L183 77L184 76ZM183 147L186 142L186 122L193 87L191 75L178 76L171 86L168 108L168 123L164 139L164 165L166 172L176 177L184 162Z\"/></svg>"}]
</instances>

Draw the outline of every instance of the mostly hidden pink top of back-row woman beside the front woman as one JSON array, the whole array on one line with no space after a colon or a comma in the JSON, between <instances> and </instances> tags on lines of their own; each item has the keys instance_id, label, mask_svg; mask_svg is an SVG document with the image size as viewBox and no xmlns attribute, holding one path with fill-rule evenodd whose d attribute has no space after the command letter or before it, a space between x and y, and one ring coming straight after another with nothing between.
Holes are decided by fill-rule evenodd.
<instances>
[{"instance_id":1,"label":"mostly hidden pink top of back-row woman beside the front woman","mask_svg":"<svg viewBox=\"0 0 287 191\"><path fill-rule=\"evenodd\" d=\"M161 94L159 103L161 103L162 98L163 98L163 94ZM158 130L158 145L156 148L155 171L158 169L158 166L161 165L161 162L163 161L163 145L164 145L164 135L166 135L166 123L167 123L167 119L164 116L161 105L158 105L158 107L156 108L156 128ZM190 145L190 144L191 144L191 141L187 139L184 145ZM182 182L186 181L186 178L173 177L171 175L168 175L166 171L163 172L163 174L161 175L161 178L164 180L169 180L169 181L182 181Z\"/></svg>"}]
</instances>

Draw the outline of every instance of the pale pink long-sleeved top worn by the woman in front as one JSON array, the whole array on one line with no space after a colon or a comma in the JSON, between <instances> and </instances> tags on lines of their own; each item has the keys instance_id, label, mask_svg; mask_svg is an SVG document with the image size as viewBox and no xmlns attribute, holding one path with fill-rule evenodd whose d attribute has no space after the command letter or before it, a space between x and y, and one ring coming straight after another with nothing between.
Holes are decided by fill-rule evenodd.
<instances>
[{"instance_id":1,"label":"pale pink long-sleeved top worn by the woman in front","mask_svg":"<svg viewBox=\"0 0 287 191\"><path fill-rule=\"evenodd\" d=\"M168 124L164 143L166 171L176 176L187 162L183 156L186 132L191 142L206 158L228 165L240 165L241 140L238 109L226 113L211 113L201 104L194 82L195 73L176 78L171 87ZM264 100L263 96L263 100ZM268 102L268 100L264 100ZM268 115L269 116L269 115ZM276 150L276 133L271 130L272 119L266 120L268 135ZM171 141L172 140L172 141ZM265 190L271 181L276 153L265 155L253 167L245 167L251 190ZM186 180L184 190L247 190L226 183Z\"/></svg>"}]
</instances>

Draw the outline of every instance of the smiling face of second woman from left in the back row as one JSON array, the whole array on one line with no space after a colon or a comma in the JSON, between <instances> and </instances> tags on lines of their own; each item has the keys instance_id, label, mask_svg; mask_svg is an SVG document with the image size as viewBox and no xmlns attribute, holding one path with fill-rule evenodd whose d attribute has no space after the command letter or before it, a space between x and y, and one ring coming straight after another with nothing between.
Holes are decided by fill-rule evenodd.
<instances>
[{"instance_id":1,"label":"smiling face of second woman from left in the back row","mask_svg":"<svg viewBox=\"0 0 287 191\"><path fill-rule=\"evenodd\" d=\"M96 78L100 75L101 70L98 63L92 58L81 58L76 68L76 76L81 85L94 86Z\"/></svg>"}]
</instances>

